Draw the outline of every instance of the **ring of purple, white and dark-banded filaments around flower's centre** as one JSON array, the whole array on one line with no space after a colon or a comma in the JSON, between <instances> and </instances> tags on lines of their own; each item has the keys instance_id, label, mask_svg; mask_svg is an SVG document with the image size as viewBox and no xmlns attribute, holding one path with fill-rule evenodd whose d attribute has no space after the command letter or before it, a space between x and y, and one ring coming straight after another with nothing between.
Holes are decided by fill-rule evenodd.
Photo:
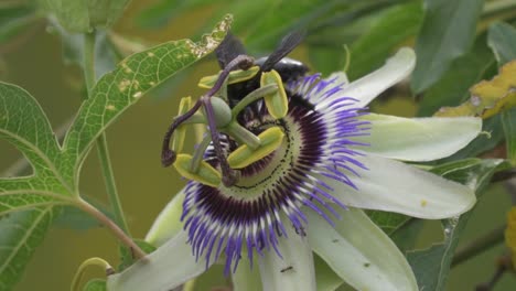
<instances>
[{"instance_id":1,"label":"ring of purple, white and dark-banded filaments around flower's centre","mask_svg":"<svg viewBox=\"0 0 516 291\"><path fill-rule=\"evenodd\" d=\"M226 193L227 188L223 186L215 188L195 181L187 183L181 219L185 222L193 255L197 259L204 257L206 267L223 254L226 274L236 270L243 254L251 266L255 251L258 256L275 251L281 257L279 241L287 239L287 227L304 235L309 222L303 212L313 211L332 225L327 213L338 218L333 206L346 206L332 195L335 190L323 180L332 179L356 188L350 175L357 175L356 169L366 166L356 160L362 153L351 147L367 146L353 141L353 138L367 136L369 129L367 121L358 119L365 115L364 108L355 107L355 99L342 96L344 85L336 78L321 80L320 75L287 85L289 112L283 120L275 121L286 132L286 157L273 159L278 153L271 153L243 169L241 179L271 171L268 165L272 161L288 165L273 176L272 171L265 173L270 179L256 188L243 187L252 195L235 196ZM265 127L265 106L260 110L259 119L244 121L255 127L261 122ZM224 134L221 138L226 151L234 150L236 146L230 138ZM293 151L294 148L299 150ZM218 166L213 147L205 158ZM239 187L239 183L233 187Z\"/></svg>"}]
</instances>

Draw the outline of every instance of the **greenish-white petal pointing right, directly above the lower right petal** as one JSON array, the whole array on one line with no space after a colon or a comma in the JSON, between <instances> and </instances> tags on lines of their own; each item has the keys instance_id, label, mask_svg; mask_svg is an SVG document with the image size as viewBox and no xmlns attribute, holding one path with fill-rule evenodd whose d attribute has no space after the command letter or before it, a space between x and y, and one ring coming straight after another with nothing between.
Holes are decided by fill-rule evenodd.
<instances>
[{"instance_id":1,"label":"greenish-white petal pointing right, directly above the lower right petal","mask_svg":"<svg viewBox=\"0 0 516 291\"><path fill-rule=\"evenodd\" d=\"M432 161L455 153L470 143L482 130L482 119L400 118L366 115L370 136L354 140L369 143L359 150L405 161Z\"/></svg>"}]
</instances>

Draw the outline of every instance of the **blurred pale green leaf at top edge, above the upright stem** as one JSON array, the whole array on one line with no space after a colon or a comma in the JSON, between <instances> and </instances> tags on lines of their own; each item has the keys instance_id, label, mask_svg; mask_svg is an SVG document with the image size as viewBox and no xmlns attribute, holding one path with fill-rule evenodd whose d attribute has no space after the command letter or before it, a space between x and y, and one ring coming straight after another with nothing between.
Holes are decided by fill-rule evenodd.
<instances>
[{"instance_id":1,"label":"blurred pale green leaf at top edge, above the upright stem","mask_svg":"<svg viewBox=\"0 0 516 291\"><path fill-rule=\"evenodd\" d=\"M108 28L118 20L129 0L37 0L71 32Z\"/></svg>"}]
</instances>

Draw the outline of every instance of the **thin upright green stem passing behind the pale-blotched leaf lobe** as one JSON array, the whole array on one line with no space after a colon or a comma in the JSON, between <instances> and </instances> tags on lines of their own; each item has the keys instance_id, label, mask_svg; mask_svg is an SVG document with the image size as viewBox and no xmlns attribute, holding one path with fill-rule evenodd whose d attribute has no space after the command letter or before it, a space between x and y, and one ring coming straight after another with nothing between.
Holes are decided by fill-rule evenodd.
<instances>
[{"instance_id":1,"label":"thin upright green stem passing behind the pale-blotched leaf lobe","mask_svg":"<svg viewBox=\"0 0 516 291\"><path fill-rule=\"evenodd\" d=\"M95 31L85 34L84 45L84 77L86 79L88 97L90 98L92 88L95 85ZM115 214L115 222L121 229L123 229L127 235L130 235L129 227L123 215L123 209L118 197L117 185L115 183L115 175L111 168L111 160L109 159L109 149L107 146L106 134L104 132L97 139L97 152L100 160L109 203Z\"/></svg>"}]
</instances>

